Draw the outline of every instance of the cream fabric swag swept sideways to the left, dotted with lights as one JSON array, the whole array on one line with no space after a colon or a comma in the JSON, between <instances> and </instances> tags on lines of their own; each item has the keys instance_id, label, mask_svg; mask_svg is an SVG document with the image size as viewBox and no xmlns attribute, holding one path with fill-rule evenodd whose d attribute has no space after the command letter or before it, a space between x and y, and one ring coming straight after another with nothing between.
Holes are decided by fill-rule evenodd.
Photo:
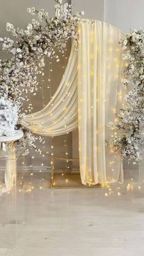
<instances>
[{"instance_id":1,"label":"cream fabric swag swept sideways to the left, dotted with lights","mask_svg":"<svg viewBox=\"0 0 144 256\"><path fill-rule=\"evenodd\" d=\"M77 128L77 50L74 43L56 93L43 110L27 115L23 124L35 134L46 136L67 134Z\"/></svg>"}]
</instances>

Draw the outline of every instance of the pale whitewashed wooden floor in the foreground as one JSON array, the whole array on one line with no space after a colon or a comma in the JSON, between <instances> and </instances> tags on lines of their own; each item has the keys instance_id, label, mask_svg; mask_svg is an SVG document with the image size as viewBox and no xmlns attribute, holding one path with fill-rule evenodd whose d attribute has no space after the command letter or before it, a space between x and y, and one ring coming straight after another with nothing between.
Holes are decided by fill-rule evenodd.
<instances>
[{"instance_id":1,"label":"pale whitewashed wooden floor in the foreground","mask_svg":"<svg viewBox=\"0 0 144 256\"><path fill-rule=\"evenodd\" d=\"M121 186L50 190L48 174L34 174L32 184L27 174L16 234L15 220L2 223L1 214L0 256L143 256L144 187L136 176Z\"/></svg>"}]
</instances>

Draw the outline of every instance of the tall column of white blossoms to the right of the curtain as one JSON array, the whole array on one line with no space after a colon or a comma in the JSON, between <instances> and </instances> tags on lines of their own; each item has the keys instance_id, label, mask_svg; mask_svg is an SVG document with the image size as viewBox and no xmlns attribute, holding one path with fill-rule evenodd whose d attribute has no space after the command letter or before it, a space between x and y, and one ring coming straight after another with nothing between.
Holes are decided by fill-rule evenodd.
<instances>
[{"instance_id":1,"label":"tall column of white blossoms to the right of the curtain","mask_svg":"<svg viewBox=\"0 0 144 256\"><path fill-rule=\"evenodd\" d=\"M121 152L128 161L139 162L143 146L142 130L144 121L144 30L132 30L121 43L123 59L128 60L124 69L124 96L126 104L117 115L115 122L107 124L113 130L119 130L109 141L109 145Z\"/></svg>"}]
</instances>

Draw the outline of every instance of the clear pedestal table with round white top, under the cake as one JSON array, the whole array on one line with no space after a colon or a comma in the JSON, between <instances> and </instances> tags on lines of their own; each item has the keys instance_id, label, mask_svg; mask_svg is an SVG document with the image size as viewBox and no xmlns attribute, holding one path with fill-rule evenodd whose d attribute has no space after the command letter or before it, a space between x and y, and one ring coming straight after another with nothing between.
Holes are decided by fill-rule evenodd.
<instances>
[{"instance_id":1,"label":"clear pedestal table with round white top, under the cake","mask_svg":"<svg viewBox=\"0 0 144 256\"><path fill-rule=\"evenodd\" d=\"M0 248L15 247L24 224L24 154L16 143L22 137L19 130L0 137Z\"/></svg>"}]
</instances>

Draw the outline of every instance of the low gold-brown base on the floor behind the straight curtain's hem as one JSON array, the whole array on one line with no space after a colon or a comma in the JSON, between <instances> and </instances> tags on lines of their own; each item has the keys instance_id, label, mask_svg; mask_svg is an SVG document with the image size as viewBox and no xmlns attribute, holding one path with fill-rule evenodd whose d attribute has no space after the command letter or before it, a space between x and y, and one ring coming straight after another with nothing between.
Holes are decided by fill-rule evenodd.
<instances>
[{"instance_id":1,"label":"low gold-brown base on the floor behind the straight curtain's hem","mask_svg":"<svg viewBox=\"0 0 144 256\"><path fill-rule=\"evenodd\" d=\"M92 189L101 187L101 184L83 185L79 173L54 173L51 189Z\"/></svg>"}]
</instances>

